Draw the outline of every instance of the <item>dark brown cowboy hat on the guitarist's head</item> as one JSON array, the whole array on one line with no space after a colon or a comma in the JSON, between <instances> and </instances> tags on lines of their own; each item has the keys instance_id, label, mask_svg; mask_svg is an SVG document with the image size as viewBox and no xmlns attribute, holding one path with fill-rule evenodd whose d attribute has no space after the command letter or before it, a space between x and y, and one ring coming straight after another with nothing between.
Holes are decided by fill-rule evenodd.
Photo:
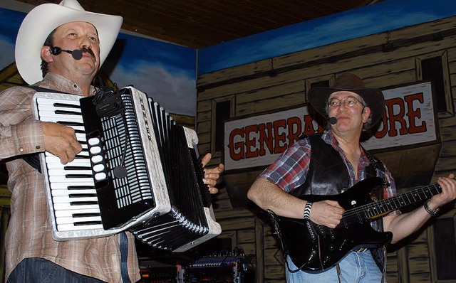
<instances>
[{"instance_id":1,"label":"dark brown cowboy hat on the guitarist's head","mask_svg":"<svg viewBox=\"0 0 456 283\"><path fill-rule=\"evenodd\" d=\"M380 121L385 109L383 93L376 88L366 88L363 80L351 73L338 75L332 87L312 87L308 94L309 102L323 117L328 117L326 105L328 104L329 95L333 92L344 90L357 93L366 102L366 107L371 109L371 124L366 126L373 127Z\"/></svg>"}]
</instances>

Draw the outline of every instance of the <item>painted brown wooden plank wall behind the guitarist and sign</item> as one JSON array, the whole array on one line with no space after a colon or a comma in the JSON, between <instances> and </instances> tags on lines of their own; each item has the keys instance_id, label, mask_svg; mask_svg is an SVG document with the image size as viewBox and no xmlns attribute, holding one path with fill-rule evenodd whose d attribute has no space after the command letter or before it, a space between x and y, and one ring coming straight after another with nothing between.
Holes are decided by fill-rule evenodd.
<instances>
[{"instance_id":1,"label":"painted brown wooden plank wall behind the guitarist and sign","mask_svg":"<svg viewBox=\"0 0 456 283\"><path fill-rule=\"evenodd\" d=\"M199 152L212 152L213 163L222 160L215 151L217 102L231 102L231 117L274 112L306 103L312 82L333 80L338 73L350 71L363 78L366 86L385 88L422 80L421 60L442 58L447 110L437 115L440 139L429 146L378 151L376 155L398 177L431 170L437 176L456 172L455 99L456 91L456 17L378 33L364 38L334 43L276 58L199 75L197 79L197 133ZM413 171L413 172L412 172ZM254 205L237 205L233 195L245 196L261 170L227 172L226 189L214 198L217 221L222 235L232 239L252 255L256 282L285 282L284 265L276 239L264 215ZM427 184L423 184L427 185ZM405 190L400 188L399 191ZM447 205L438 219L456 219L454 203ZM426 225L400 245L389 247L388 282L456 282L437 278L434 225ZM456 241L452 239L453 243ZM448 258L456 267L456 258Z\"/></svg>"}]
</instances>

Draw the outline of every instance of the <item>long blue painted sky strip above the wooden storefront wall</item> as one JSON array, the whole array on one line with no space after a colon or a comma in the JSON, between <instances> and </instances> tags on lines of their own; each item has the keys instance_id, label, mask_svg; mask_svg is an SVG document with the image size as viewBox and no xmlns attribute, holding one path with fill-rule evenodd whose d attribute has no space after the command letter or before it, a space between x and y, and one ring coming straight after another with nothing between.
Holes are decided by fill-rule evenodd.
<instances>
[{"instance_id":1,"label":"long blue painted sky strip above the wooden storefront wall","mask_svg":"<svg viewBox=\"0 0 456 283\"><path fill-rule=\"evenodd\" d=\"M199 49L198 73L209 73L454 15L455 0L387 0Z\"/></svg>"}]
</instances>

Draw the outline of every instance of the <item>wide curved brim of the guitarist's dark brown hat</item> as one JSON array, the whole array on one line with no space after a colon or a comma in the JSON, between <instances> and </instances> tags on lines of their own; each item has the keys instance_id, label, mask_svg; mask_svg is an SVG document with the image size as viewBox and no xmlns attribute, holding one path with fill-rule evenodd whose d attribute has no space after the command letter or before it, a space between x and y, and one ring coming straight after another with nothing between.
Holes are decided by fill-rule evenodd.
<instances>
[{"instance_id":1,"label":"wide curved brim of the guitarist's dark brown hat","mask_svg":"<svg viewBox=\"0 0 456 283\"><path fill-rule=\"evenodd\" d=\"M376 88L347 89L337 87L312 87L311 90L309 90L308 99L312 107L314 107L319 114L323 117L328 117L328 113L326 113L328 97L331 93L338 91L355 92L363 98L364 102L366 102L366 107L371 109L371 127L377 124L383 117L383 111L385 110L385 97L383 97L381 90Z\"/></svg>"}]
</instances>

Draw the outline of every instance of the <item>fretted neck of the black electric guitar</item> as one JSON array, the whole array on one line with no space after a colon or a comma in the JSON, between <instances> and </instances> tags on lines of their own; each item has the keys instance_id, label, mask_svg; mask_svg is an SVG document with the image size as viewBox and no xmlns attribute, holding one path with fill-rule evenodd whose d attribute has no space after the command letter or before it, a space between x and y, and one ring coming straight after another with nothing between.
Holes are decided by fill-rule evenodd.
<instances>
[{"instance_id":1,"label":"fretted neck of the black electric guitar","mask_svg":"<svg viewBox=\"0 0 456 283\"><path fill-rule=\"evenodd\" d=\"M353 208L351 210L355 211L348 210L343 218L351 218L353 217L352 213L355 213L358 220L372 220L375 218L383 217L393 210L397 210L407 205L427 200L428 198L431 198L432 196L439 193L442 193L442 187L440 187L438 183L433 183L432 185L424 186L413 191L408 191L407 193L402 193L398 196L385 198L380 201L374 201L366 205L361 205L358 208Z\"/></svg>"}]
</instances>

